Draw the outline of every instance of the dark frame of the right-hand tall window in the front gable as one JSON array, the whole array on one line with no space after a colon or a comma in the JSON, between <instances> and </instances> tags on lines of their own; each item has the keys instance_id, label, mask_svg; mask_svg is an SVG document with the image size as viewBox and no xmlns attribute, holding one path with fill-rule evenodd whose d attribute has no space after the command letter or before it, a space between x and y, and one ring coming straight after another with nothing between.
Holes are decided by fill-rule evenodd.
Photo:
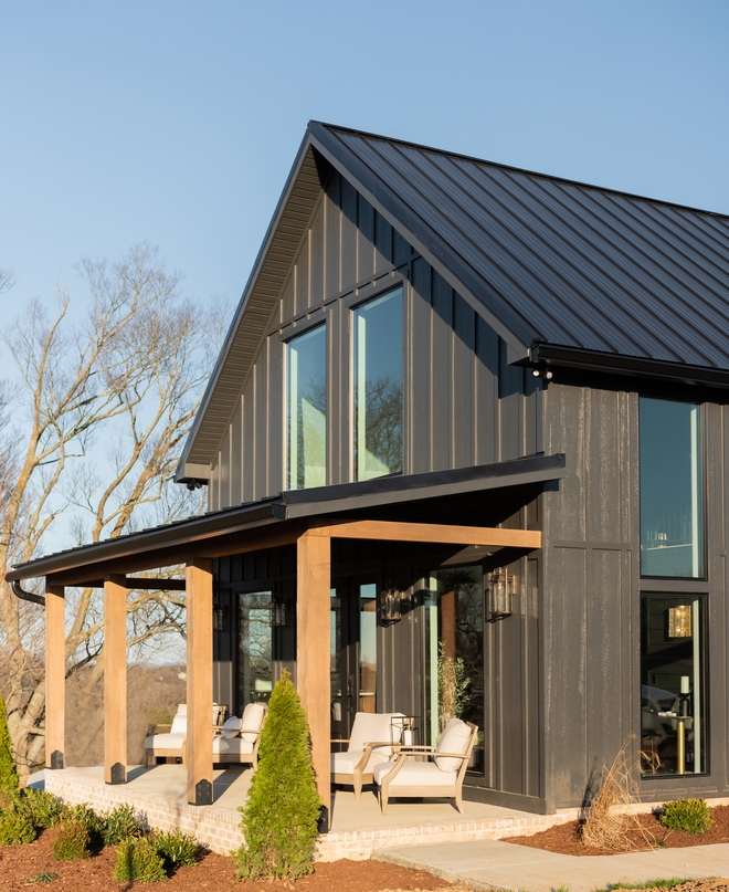
<instances>
[{"instance_id":1,"label":"dark frame of the right-hand tall window in the front gable","mask_svg":"<svg viewBox=\"0 0 729 892\"><path fill-rule=\"evenodd\" d=\"M377 285L368 288L362 288L358 291L356 295L352 295L348 301L342 302L342 312L347 313L347 327L348 327L348 350L349 356L347 358L347 374L349 376L349 387L348 387L348 430L347 430L347 439L348 439L348 464L349 464L349 474L348 479L352 483L367 483L367 480L359 480L357 476L357 466L356 466L356 459L355 459L355 441L357 437L357 431L355 427L356 420L356 411L355 411L355 400L356 400L356 389L357 389L357 375L355 370L355 350L356 350L356 338L357 338L357 330L355 325L355 313L366 304L372 303L373 301L378 301L381 297L384 297L390 292L398 291L400 288L402 291L401 295L401 312L402 312L402 458L401 458L401 468L400 471L392 471L389 474L382 474L377 478L369 478L368 480L383 480L390 476L400 476L405 471L405 458L408 454L406 448L406 431L408 426L405 423L405 419L408 417L406 406L408 406L408 359L406 359L406 343L408 343L408 279L406 276L399 274L399 275L389 275L388 282L379 282Z\"/></svg>"}]
</instances>

